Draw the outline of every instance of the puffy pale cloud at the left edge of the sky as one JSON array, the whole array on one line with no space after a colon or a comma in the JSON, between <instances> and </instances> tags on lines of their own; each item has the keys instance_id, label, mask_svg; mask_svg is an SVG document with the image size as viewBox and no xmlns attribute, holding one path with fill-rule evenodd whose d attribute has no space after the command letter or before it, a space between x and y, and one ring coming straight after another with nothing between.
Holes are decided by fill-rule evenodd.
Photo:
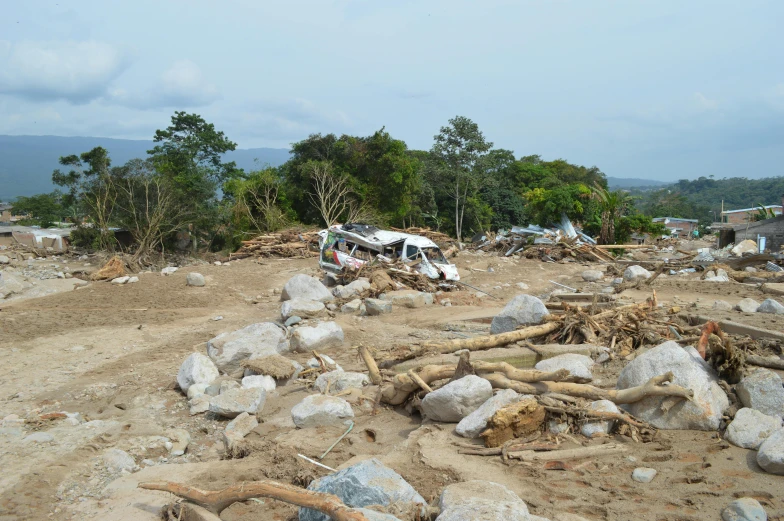
<instances>
[{"instance_id":1,"label":"puffy pale cloud at the left edge of the sky","mask_svg":"<svg viewBox=\"0 0 784 521\"><path fill-rule=\"evenodd\" d=\"M129 62L96 41L0 40L0 94L87 103L103 96Z\"/></svg>"}]
</instances>

